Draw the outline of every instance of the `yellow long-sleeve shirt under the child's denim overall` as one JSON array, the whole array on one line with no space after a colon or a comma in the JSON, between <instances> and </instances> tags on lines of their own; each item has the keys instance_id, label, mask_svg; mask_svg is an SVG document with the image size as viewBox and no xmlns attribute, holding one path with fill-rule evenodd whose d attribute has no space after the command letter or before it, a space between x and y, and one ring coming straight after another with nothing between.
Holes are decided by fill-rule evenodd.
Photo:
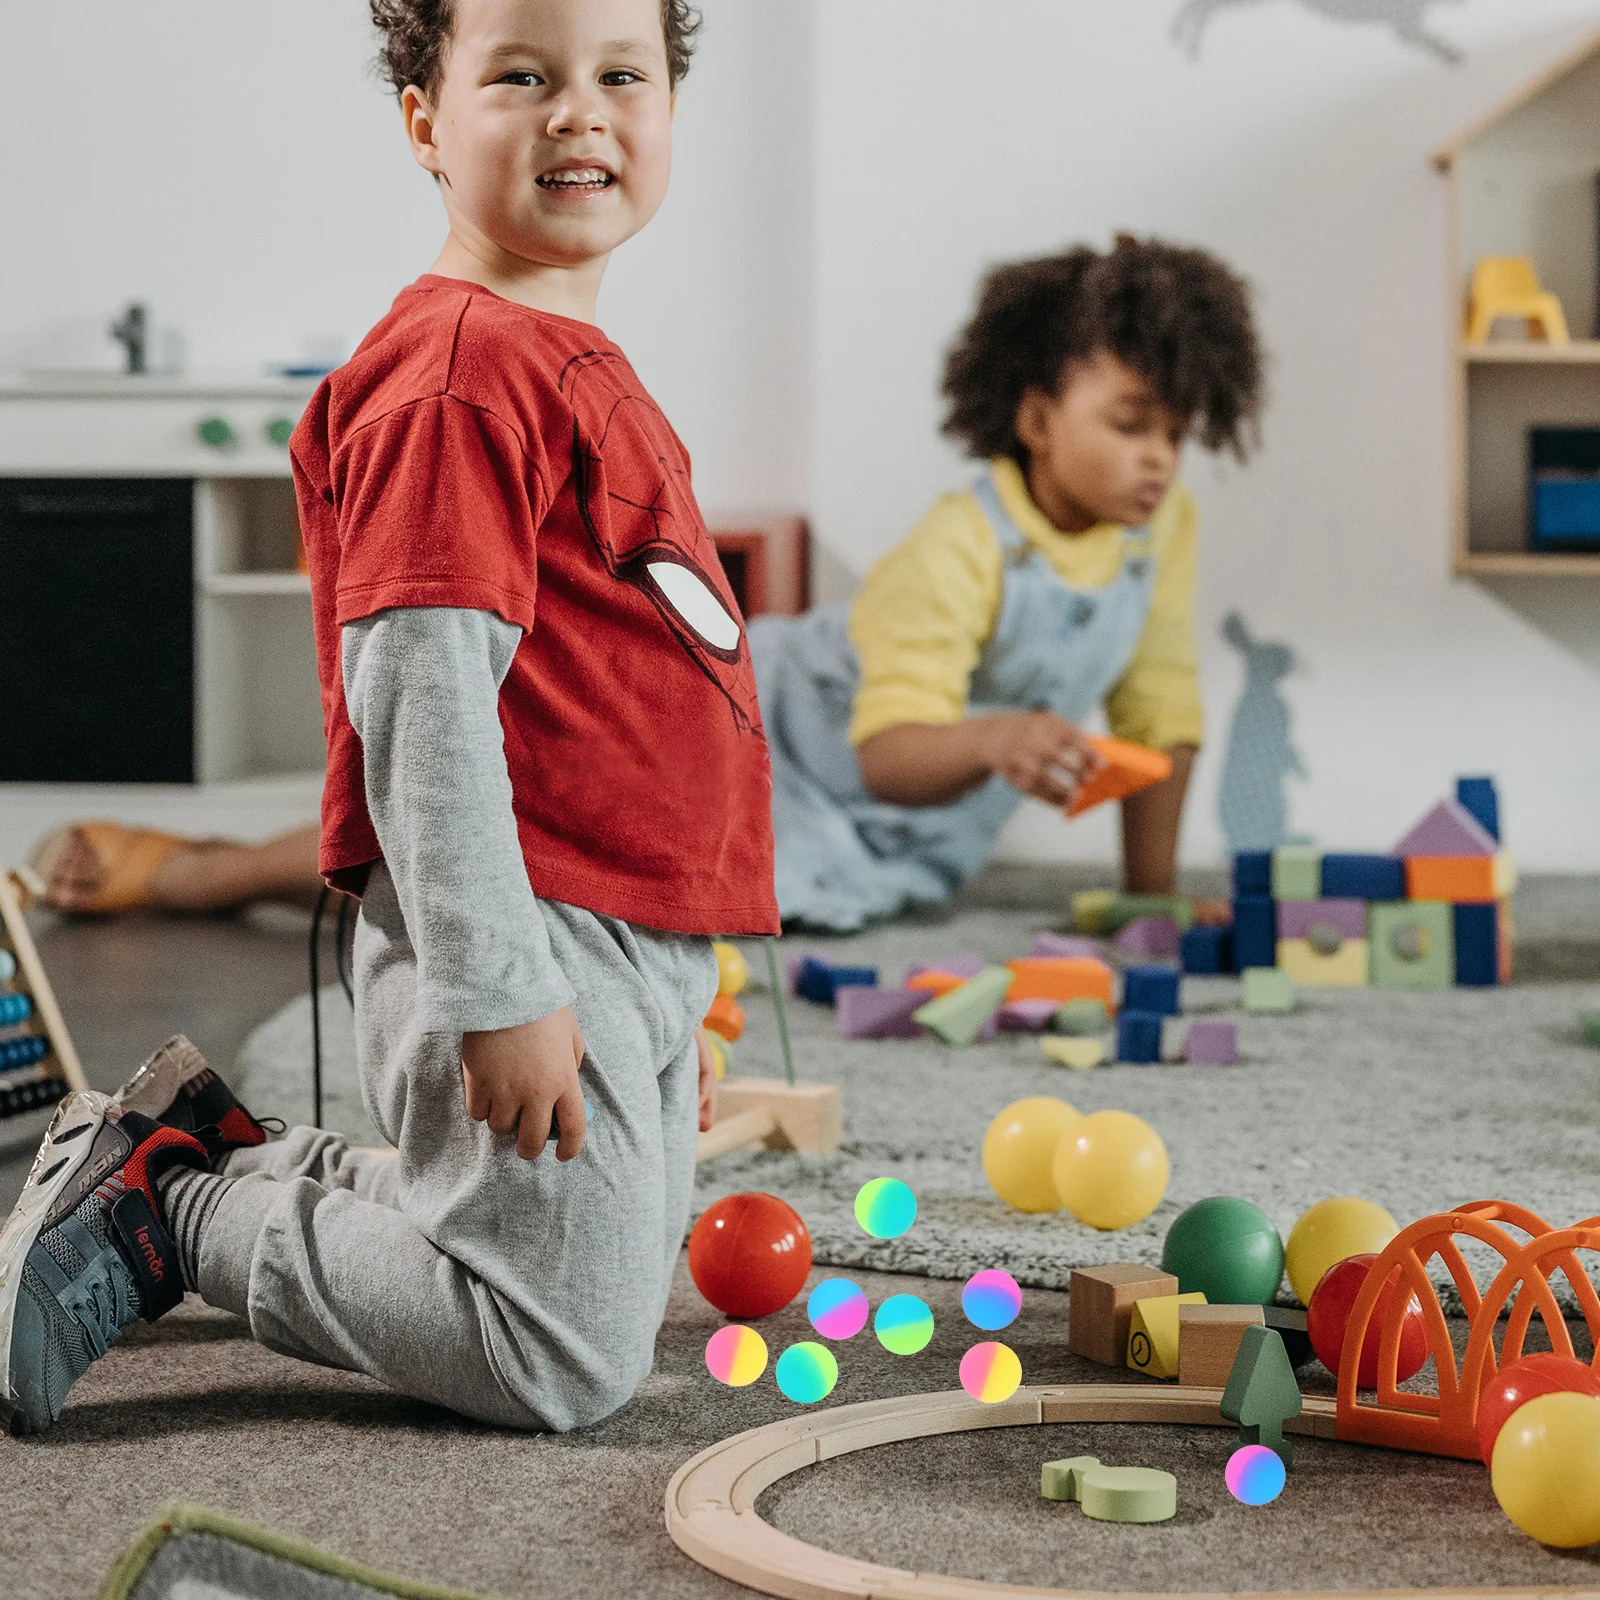
<instances>
[{"instance_id":1,"label":"yellow long-sleeve shirt under the child's denim overall","mask_svg":"<svg viewBox=\"0 0 1600 1600\"><path fill-rule=\"evenodd\" d=\"M1126 530L1101 523L1062 533L1034 504L1014 461L994 462L1002 504L1062 581L1104 589L1122 571ZM1200 510L1174 483L1150 518L1155 582L1150 614L1106 717L1120 739L1155 749L1200 744L1195 560ZM861 659L850 725L853 744L906 722L954 723L966 715L978 658L1000 616L1003 554L976 496L947 494L867 574L850 613Z\"/></svg>"}]
</instances>

